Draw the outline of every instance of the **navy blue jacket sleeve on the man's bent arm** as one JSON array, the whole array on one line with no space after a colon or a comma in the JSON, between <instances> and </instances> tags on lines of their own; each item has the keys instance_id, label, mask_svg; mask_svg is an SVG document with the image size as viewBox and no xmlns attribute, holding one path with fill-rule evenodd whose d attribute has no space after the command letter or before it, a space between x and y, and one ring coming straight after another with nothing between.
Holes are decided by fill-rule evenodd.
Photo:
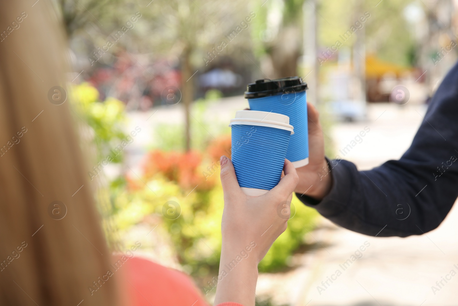
<instances>
[{"instance_id":1,"label":"navy blue jacket sleeve on the man's bent arm","mask_svg":"<svg viewBox=\"0 0 458 306\"><path fill-rule=\"evenodd\" d=\"M412 145L398 161L369 171L344 160L328 163L330 193L320 202L296 195L333 223L378 237L436 228L458 196L458 64L437 89Z\"/></svg>"}]
</instances>

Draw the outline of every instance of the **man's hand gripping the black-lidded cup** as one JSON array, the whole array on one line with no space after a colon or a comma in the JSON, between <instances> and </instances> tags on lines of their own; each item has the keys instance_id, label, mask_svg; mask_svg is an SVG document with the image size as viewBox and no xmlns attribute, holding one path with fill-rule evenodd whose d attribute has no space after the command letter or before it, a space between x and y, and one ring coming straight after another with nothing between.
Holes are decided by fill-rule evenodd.
<instances>
[{"instance_id":1,"label":"man's hand gripping the black-lidded cup","mask_svg":"<svg viewBox=\"0 0 458 306\"><path fill-rule=\"evenodd\" d=\"M315 106L307 103L309 128L309 164L296 169L299 184L294 191L321 200L332 187L330 169L324 158L324 138Z\"/></svg>"}]
</instances>

